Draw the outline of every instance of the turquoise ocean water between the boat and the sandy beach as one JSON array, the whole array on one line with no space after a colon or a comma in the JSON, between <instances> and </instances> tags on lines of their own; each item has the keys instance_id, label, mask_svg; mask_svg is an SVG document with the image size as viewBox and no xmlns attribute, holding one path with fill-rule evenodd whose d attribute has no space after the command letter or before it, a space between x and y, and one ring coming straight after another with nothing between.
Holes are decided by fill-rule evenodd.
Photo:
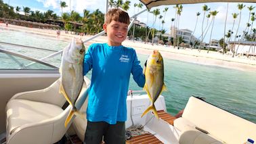
<instances>
[{"instance_id":1,"label":"turquoise ocean water between the boat and the sandy beach","mask_svg":"<svg viewBox=\"0 0 256 144\"><path fill-rule=\"evenodd\" d=\"M0 42L54 51L59 51L68 45L68 41L62 41L56 37L43 37L4 29L0 29ZM53 53L53 51L11 47L1 45L1 43L0 48L37 59ZM142 66L147 57L148 55L138 54ZM49 59L49 62L60 66L60 55ZM256 123L256 72L192 64L167 58L164 58L164 64L167 91L164 91L162 95L165 97L167 111L170 114L175 115L184 109L188 98L194 95L205 97L209 103ZM132 76L129 89L142 90L134 82Z\"/></svg>"}]
</instances>

